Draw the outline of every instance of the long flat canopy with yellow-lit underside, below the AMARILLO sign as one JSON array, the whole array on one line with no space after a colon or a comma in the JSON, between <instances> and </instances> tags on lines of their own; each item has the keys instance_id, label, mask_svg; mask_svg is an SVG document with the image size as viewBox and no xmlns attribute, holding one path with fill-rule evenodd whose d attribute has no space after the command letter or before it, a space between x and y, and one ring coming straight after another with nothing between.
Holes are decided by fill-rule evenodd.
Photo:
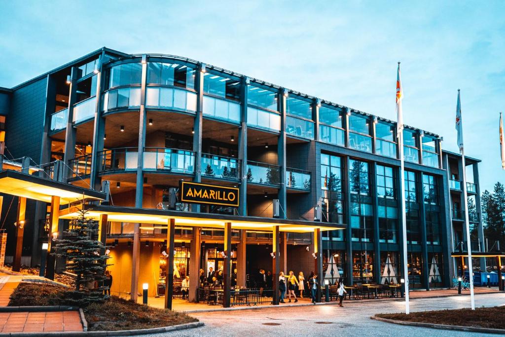
<instances>
[{"instance_id":1,"label":"long flat canopy with yellow-lit underside, below the AMARILLO sign","mask_svg":"<svg viewBox=\"0 0 505 337\"><path fill-rule=\"evenodd\" d=\"M60 219L74 219L82 208L77 205L60 211ZM189 213L181 211L168 211L158 209L144 209L134 207L84 205L86 217L98 220L100 215L107 214L108 221L130 222L141 224L167 225L169 219L175 219L177 226L184 227L210 227L224 228L226 222L231 222L233 229L249 229L272 231L274 226L279 226L285 232L313 232L321 230L335 230L346 228L343 224L326 223L319 221L287 220L274 218L260 218L250 216L230 216L211 213ZM159 227L158 227L159 228Z\"/></svg>"}]
</instances>

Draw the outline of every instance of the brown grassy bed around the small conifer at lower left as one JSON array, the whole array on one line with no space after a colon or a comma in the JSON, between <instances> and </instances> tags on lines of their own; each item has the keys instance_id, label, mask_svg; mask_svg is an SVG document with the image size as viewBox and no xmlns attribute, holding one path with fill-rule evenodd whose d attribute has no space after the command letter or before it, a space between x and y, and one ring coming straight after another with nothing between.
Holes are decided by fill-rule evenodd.
<instances>
[{"instance_id":1,"label":"brown grassy bed around the small conifer at lower left","mask_svg":"<svg viewBox=\"0 0 505 337\"><path fill-rule=\"evenodd\" d=\"M21 282L9 306L66 305L68 288L54 284ZM112 296L104 303L83 308L90 331L117 331L170 326L198 321L183 313L152 308Z\"/></svg>"}]
</instances>

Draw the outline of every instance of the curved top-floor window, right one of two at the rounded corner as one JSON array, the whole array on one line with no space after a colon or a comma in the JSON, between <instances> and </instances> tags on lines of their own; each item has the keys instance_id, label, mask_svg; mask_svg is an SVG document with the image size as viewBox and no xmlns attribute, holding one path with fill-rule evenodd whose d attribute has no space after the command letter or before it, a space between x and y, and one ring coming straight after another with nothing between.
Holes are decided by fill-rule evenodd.
<instances>
[{"instance_id":1,"label":"curved top-floor window, right one of two at the rounded corner","mask_svg":"<svg viewBox=\"0 0 505 337\"><path fill-rule=\"evenodd\" d=\"M149 62L147 83L194 89L194 69L176 63Z\"/></svg>"}]
</instances>

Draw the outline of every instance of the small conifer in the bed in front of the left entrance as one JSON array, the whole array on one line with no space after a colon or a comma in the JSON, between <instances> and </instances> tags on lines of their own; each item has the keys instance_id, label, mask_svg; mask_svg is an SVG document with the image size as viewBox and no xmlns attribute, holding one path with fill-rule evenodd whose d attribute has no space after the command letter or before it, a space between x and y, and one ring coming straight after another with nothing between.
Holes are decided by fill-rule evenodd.
<instances>
[{"instance_id":1,"label":"small conifer in the bed in front of the left entrance","mask_svg":"<svg viewBox=\"0 0 505 337\"><path fill-rule=\"evenodd\" d=\"M100 254L106 247L94 239L98 225L86 218L86 213L79 211L79 216L70 222L69 229L63 233L62 239L56 241L55 246L56 256L66 260L65 269L77 275L75 289L65 301L80 307L108 299L104 295L105 288L95 287L95 284L103 284L109 256Z\"/></svg>"}]
</instances>

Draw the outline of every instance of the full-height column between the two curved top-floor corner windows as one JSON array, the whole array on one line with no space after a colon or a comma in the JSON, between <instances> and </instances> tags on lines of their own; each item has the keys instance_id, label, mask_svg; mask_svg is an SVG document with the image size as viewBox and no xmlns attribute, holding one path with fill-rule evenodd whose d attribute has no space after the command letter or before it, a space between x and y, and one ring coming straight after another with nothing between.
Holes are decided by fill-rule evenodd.
<instances>
[{"instance_id":1,"label":"full-height column between the two curved top-floor corner windows","mask_svg":"<svg viewBox=\"0 0 505 337\"><path fill-rule=\"evenodd\" d=\"M144 146L147 113L145 111L145 80L147 77L147 57L142 55L142 78L140 87L140 113L138 125L137 181L135 188L135 207L142 208L144 194ZM173 252L172 252L173 255ZM136 302L138 297L138 273L140 271L140 223L133 228L133 253L131 267L130 300Z\"/></svg>"}]
</instances>

